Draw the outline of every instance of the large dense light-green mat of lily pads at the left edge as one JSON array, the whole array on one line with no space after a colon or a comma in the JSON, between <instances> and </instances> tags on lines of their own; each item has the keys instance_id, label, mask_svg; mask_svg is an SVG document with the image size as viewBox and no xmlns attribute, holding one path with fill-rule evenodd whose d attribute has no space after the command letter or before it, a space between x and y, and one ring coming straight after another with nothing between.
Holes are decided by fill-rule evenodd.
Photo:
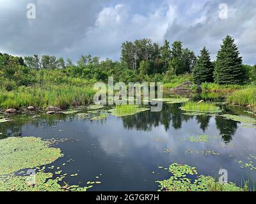
<instances>
[{"instance_id":1,"label":"large dense light-green mat of lily pads at the left edge","mask_svg":"<svg viewBox=\"0 0 256 204\"><path fill-rule=\"evenodd\" d=\"M0 175L50 164L61 156L60 149L49 147L40 138L6 138L0 140Z\"/></svg>"}]
</instances>

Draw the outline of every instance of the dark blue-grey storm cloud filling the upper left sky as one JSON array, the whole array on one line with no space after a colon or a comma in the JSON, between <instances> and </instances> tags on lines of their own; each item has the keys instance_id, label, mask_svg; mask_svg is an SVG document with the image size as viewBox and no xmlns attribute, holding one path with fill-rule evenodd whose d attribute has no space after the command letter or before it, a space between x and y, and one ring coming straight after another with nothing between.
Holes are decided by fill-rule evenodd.
<instances>
[{"instance_id":1,"label":"dark blue-grey storm cloud filling the upper left sky","mask_svg":"<svg viewBox=\"0 0 256 204\"><path fill-rule=\"evenodd\" d=\"M13 54L58 54L84 38L103 2L79 0L0 0L0 50ZM26 17L28 3L36 19Z\"/></svg>"}]
</instances>

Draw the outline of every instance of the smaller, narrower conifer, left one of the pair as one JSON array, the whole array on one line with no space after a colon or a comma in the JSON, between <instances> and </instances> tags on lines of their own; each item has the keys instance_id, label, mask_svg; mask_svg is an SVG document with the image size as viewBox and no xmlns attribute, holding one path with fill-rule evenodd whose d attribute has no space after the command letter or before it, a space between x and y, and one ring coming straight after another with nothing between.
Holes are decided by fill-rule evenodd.
<instances>
[{"instance_id":1,"label":"smaller, narrower conifer, left one of the pair","mask_svg":"<svg viewBox=\"0 0 256 204\"><path fill-rule=\"evenodd\" d=\"M195 84L204 82L213 82L214 66L211 62L209 51L204 47L201 50L201 55L198 57L193 69L193 81Z\"/></svg>"}]
</instances>

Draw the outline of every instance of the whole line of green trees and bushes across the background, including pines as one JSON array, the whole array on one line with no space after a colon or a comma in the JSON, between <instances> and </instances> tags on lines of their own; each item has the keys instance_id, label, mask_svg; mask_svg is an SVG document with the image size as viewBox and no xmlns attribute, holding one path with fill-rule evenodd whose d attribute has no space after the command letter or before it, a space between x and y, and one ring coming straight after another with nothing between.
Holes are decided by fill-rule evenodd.
<instances>
[{"instance_id":1,"label":"whole line of green trees and bushes across the background, including pines","mask_svg":"<svg viewBox=\"0 0 256 204\"><path fill-rule=\"evenodd\" d=\"M207 48L202 48L200 55L184 48L181 41L172 45L165 40L163 45L150 39L125 41L121 46L120 61L82 55L73 63L63 57L52 55L33 55L15 57L0 53L0 82L16 85L31 85L38 82L38 75L44 71L55 70L67 77L86 80L106 81L114 77L122 82L164 82L174 76L191 73L195 84L215 82L216 84L244 84L256 81L256 66L243 65L237 45L231 36L223 40L216 61L211 61ZM58 70L59 72L56 72ZM8 82L6 82L8 80Z\"/></svg>"}]
</instances>

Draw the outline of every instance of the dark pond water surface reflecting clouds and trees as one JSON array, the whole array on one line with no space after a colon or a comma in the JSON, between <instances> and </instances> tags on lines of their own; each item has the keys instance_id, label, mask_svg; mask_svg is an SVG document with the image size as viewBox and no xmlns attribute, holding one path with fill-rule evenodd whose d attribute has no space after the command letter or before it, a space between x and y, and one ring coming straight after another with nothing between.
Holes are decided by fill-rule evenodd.
<instances>
[{"instance_id":1,"label":"dark pond water surface reflecting clouds and trees","mask_svg":"<svg viewBox=\"0 0 256 204\"><path fill-rule=\"evenodd\" d=\"M244 113L243 108L232 106L226 111ZM196 166L198 173L213 177L225 168L228 180L237 185L241 179L256 180L256 170L241 168L238 162L246 163L249 158L256 166L256 160L250 157L256 156L256 131L239 122L183 115L179 105L164 105L157 113L109 116L102 121L77 119L75 115L38 115L35 119L6 122L0 124L0 133L2 137L72 138L56 145L65 156L48 166L61 166L68 175L78 173L77 177L66 177L70 185L86 186L87 181L99 180L95 177L100 175L102 183L90 191L156 191L159 187L155 181L170 177L158 167L167 168L172 163ZM189 136L196 135L212 138L209 143L191 142ZM219 155L202 154L204 150ZM67 163L71 158L74 161Z\"/></svg>"}]
</instances>

